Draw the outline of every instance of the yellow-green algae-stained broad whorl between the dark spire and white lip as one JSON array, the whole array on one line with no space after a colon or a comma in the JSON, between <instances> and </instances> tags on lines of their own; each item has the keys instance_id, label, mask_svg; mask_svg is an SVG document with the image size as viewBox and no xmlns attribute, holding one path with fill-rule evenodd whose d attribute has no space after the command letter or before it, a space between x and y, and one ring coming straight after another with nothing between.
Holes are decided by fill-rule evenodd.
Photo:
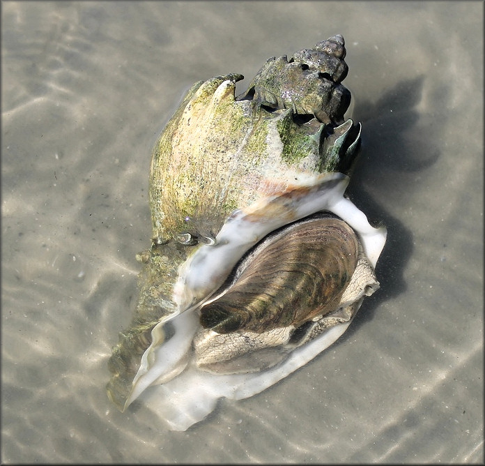
<instances>
[{"instance_id":1,"label":"yellow-green algae-stained broad whorl between the dark spire and white lip","mask_svg":"<svg viewBox=\"0 0 485 466\"><path fill-rule=\"evenodd\" d=\"M323 123L298 124L291 109L236 100L240 75L197 84L155 147L151 166L153 237L215 237L236 209L305 189L325 172ZM182 104L183 107L184 104Z\"/></svg>"}]
</instances>

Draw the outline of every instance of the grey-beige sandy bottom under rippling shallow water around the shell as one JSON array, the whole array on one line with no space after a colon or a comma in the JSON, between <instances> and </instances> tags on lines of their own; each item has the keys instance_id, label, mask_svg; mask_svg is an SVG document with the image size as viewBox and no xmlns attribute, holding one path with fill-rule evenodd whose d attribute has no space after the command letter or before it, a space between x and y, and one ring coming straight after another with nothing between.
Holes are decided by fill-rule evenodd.
<instances>
[{"instance_id":1,"label":"grey-beige sandy bottom under rippling shallow water around the shell","mask_svg":"<svg viewBox=\"0 0 485 466\"><path fill-rule=\"evenodd\" d=\"M2 463L480 463L482 2L1 3ZM184 433L105 395L183 92L341 33L389 234L338 343Z\"/></svg>"}]
</instances>

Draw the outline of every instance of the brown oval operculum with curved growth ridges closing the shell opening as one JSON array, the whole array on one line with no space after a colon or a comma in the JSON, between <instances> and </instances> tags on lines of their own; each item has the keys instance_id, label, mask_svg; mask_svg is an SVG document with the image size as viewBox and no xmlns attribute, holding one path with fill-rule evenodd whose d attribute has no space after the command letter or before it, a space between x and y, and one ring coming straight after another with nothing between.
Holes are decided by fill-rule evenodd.
<instances>
[{"instance_id":1,"label":"brown oval operculum with curved growth ridges closing the shell opening","mask_svg":"<svg viewBox=\"0 0 485 466\"><path fill-rule=\"evenodd\" d=\"M262 241L233 283L201 309L217 333L295 326L334 311L357 264L355 233L337 218L295 223Z\"/></svg>"}]
</instances>

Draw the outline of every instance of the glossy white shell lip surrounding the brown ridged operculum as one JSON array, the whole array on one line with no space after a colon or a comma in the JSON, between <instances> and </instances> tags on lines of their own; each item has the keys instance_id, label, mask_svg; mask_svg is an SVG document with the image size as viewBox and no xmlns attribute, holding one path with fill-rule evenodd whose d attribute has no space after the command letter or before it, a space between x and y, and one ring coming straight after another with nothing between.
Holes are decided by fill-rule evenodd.
<instances>
[{"instance_id":1,"label":"glossy white shell lip surrounding the brown ridged operculum","mask_svg":"<svg viewBox=\"0 0 485 466\"><path fill-rule=\"evenodd\" d=\"M261 373L215 375L198 369L188 356L200 326L199 306L222 285L240 257L278 227L318 211L330 211L353 228L369 262L376 266L385 244L385 227L372 227L367 216L344 197L348 176L322 174L316 181L305 191L290 190L236 211L217 234L216 244L200 246L180 267L174 290L178 310L153 328L152 343L142 356L125 409L143 394L150 409L163 413L171 430L186 430L210 413L219 398L248 398L265 390L311 361L346 331L352 319L328 329ZM363 299L354 304L355 313ZM174 337L160 344L164 339L162 327L169 321Z\"/></svg>"}]
</instances>

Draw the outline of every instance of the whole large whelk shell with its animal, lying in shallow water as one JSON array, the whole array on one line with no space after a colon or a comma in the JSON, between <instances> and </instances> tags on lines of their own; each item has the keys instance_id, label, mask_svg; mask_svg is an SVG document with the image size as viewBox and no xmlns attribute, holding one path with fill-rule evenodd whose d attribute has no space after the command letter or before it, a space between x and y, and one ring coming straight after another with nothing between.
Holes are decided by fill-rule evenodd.
<instances>
[{"instance_id":1,"label":"whole large whelk shell with its animal, lying in shallow water","mask_svg":"<svg viewBox=\"0 0 485 466\"><path fill-rule=\"evenodd\" d=\"M344 38L197 82L155 144L152 245L109 360L109 398L173 430L275 384L334 343L364 296L385 227L348 200L360 124ZM325 363L325 361L322 361Z\"/></svg>"}]
</instances>

